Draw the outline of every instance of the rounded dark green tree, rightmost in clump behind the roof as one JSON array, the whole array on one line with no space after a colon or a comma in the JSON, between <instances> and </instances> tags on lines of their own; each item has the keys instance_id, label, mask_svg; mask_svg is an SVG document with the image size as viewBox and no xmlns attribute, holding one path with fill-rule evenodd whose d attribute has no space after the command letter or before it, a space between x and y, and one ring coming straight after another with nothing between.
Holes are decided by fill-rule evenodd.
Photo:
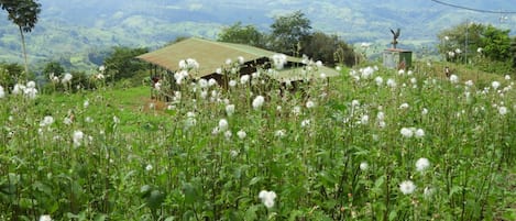
<instances>
[{"instance_id":1,"label":"rounded dark green tree, rightmost in clump behind the roof","mask_svg":"<svg viewBox=\"0 0 516 221\"><path fill-rule=\"evenodd\" d=\"M301 53L312 58L321 60L326 65L333 66L342 62L348 66L354 63L354 52L344 41L337 35L328 35L322 32L315 32L305 37Z\"/></svg>"}]
</instances>

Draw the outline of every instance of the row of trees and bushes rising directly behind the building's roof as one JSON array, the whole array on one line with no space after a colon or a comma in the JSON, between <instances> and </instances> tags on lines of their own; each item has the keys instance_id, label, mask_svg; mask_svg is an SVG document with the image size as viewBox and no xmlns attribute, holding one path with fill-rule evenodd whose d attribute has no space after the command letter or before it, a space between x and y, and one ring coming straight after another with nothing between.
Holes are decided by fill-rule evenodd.
<instances>
[{"instance_id":1,"label":"row of trees and bushes rising directly behind the building's roof","mask_svg":"<svg viewBox=\"0 0 516 221\"><path fill-rule=\"evenodd\" d=\"M306 55L325 65L356 64L353 48L337 35L311 32L310 20L300 11L277 16L271 24L271 33L261 33L254 25L241 22L222 29L218 41L249 44L292 56Z\"/></svg>"}]
</instances>

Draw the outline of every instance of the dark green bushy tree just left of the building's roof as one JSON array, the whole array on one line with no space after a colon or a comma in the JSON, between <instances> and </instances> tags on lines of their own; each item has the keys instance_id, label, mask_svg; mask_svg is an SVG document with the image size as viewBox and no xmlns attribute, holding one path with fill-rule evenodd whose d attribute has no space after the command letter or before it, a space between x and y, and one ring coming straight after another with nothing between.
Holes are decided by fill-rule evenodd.
<instances>
[{"instance_id":1,"label":"dark green bushy tree just left of the building's roof","mask_svg":"<svg viewBox=\"0 0 516 221\"><path fill-rule=\"evenodd\" d=\"M146 63L135 57L147 53L146 48L114 47L113 53L108 56L103 64L107 69L107 78L120 80L133 77L138 71L145 70Z\"/></svg>"}]
</instances>

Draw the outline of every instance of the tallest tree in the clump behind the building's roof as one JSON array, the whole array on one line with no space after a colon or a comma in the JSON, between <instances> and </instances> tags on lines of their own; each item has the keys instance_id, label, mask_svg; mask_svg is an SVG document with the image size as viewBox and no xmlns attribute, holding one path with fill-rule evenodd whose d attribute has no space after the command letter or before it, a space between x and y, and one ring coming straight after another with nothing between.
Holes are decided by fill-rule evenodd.
<instances>
[{"instance_id":1,"label":"tallest tree in the clump behind the building's roof","mask_svg":"<svg viewBox=\"0 0 516 221\"><path fill-rule=\"evenodd\" d=\"M271 25L271 49L295 55L300 43L310 34L310 20L300 11L278 16Z\"/></svg>"}]
</instances>

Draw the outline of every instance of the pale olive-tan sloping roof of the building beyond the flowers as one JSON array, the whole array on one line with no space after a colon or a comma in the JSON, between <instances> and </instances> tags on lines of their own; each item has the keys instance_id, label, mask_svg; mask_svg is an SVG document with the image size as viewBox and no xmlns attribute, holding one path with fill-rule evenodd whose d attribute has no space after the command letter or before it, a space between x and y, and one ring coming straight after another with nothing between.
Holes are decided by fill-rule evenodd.
<instances>
[{"instance_id":1,"label":"pale olive-tan sloping roof of the building beyond the flowers","mask_svg":"<svg viewBox=\"0 0 516 221\"><path fill-rule=\"evenodd\" d=\"M179 60L194 58L199 64L199 69L193 77L199 78L215 74L217 68L220 68L228 58L234 60L241 56L244 58L244 63L248 63L261 58L270 58L275 54L277 53L243 44L223 43L190 37L154 52L140 55L136 58L157 65L171 71L176 71L179 69ZM292 56L287 56L287 60L292 63L301 63L300 58ZM321 69L325 69L325 74L328 77L339 75L338 71L331 68ZM298 73L297 70L300 69L294 68L290 70L293 70L290 73L294 73L294 70ZM285 75L285 73L288 74L287 70L282 70L282 73L283 75ZM316 75L319 74L320 71ZM285 76L282 78L285 78ZM295 78L297 79L298 77Z\"/></svg>"}]
</instances>

